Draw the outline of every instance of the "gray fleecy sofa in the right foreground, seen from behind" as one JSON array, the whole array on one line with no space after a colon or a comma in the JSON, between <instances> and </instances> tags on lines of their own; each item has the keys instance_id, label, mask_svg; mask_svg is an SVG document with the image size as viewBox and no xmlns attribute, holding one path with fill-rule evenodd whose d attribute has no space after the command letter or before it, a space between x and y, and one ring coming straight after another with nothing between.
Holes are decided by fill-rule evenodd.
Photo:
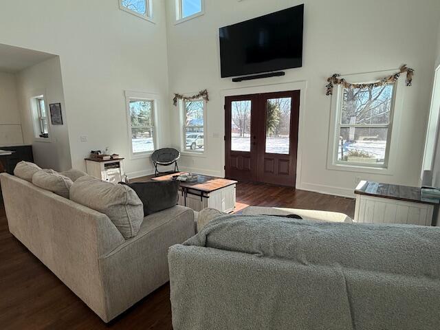
<instances>
[{"instance_id":1,"label":"gray fleecy sofa in the right foreground, seen from behind","mask_svg":"<svg viewBox=\"0 0 440 330\"><path fill-rule=\"evenodd\" d=\"M170 248L173 329L440 329L440 228L261 211Z\"/></svg>"}]
</instances>

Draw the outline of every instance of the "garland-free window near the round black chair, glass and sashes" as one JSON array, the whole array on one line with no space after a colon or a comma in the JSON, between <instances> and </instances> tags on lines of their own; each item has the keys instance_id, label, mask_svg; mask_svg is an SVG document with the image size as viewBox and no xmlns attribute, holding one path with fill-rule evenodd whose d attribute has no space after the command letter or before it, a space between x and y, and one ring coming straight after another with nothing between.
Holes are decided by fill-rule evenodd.
<instances>
[{"instance_id":1,"label":"garland-free window near the round black chair, glass and sashes","mask_svg":"<svg viewBox=\"0 0 440 330\"><path fill-rule=\"evenodd\" d=\"M155 100L127 96L131 155L148 155L155 151Z\"/></svg>"}]
</instances>

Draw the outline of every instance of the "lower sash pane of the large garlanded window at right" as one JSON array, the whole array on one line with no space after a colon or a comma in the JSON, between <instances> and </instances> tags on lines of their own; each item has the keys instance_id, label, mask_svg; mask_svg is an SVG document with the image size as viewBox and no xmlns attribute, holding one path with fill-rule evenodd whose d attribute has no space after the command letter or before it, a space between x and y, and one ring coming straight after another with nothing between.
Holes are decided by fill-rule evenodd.
<instances>
[{"instance_id":1,"label":"lower sash pane of the large garlanded window at right","mask_svg":"<svg viewBox=\"0 0 440 330\"><path fill-rule=\"evenodd\" d=\"M342 127L338 144L341 162L383 165L388 128Z\"/></svg>"}]
</instances>

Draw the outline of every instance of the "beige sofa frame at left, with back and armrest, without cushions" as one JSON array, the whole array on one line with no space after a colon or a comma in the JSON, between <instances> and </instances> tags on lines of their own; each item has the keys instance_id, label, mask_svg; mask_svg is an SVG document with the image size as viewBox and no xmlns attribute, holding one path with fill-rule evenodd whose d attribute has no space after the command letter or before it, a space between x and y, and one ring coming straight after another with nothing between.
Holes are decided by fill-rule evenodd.
<instances>
[{"instance_id":1,"label":"beige sofa frame at left, with back and armrest, without cushions","mask_svg":"<svg viewBox=\"0 0 440 330\"><path fill-rule=\"evenodd\" d=\"M10 232L104 322L167 283L168 248L195 234L192 210L175 206L124 239L105 214L29 179L0 179Z\"/></svg>"}]
</instances>

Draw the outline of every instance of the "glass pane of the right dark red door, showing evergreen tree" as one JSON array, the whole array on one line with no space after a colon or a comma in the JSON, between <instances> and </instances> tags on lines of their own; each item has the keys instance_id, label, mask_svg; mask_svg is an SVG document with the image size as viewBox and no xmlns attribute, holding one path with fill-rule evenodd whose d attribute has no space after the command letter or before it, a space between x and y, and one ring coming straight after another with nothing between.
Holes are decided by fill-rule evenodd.
<instances>
[{"instance_id":1,"label":"glass pane of the right dark red door, showing evergreen tree","mask_svg":"<svg viewBox=\"0 0 440 330\"><path fill-rule=\"evenodd\" d=\"M271 98L266 103L266 153L289 155L292 98Z\"/></svg>"}]
</instances>

